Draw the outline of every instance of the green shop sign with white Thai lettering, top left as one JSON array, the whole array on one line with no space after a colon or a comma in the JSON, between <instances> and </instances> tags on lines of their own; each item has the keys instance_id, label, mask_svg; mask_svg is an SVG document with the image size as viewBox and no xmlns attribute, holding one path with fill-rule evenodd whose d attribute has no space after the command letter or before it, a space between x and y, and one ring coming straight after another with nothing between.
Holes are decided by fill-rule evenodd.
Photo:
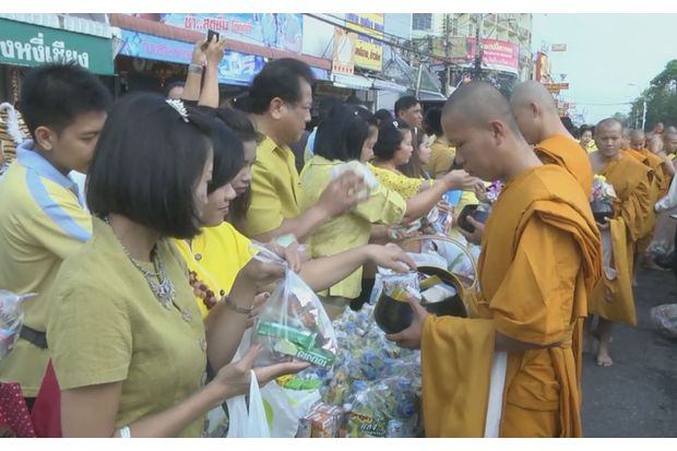
<instances>
[{"instance_id":1,"label":"green shop sign with white Thai lettering, top left","mask_svg":"<svg viewBox=\"0 0 677 451\"><path fill-rule=\"evenodd\" d=\"M74 61L102 75L111 75L112 41L58 28L0 19L0 63L41 66Z\"/></svg>"}]
</instances>

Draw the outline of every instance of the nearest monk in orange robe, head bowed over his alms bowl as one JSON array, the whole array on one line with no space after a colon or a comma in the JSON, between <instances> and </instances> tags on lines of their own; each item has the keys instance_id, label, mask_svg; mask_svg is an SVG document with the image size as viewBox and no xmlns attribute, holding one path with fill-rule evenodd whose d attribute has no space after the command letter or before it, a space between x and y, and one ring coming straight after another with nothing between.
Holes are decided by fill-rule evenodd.
<instances>
[{"instance_id":1,"label":"nearest monk in orange robe, head bowed over his alms bowl","mask_svg":"<svg viewBox=\"0 0 677 451\"><path fill-rule=\"evenodd\" d=\"M426 435L580 437L574 331L601 271L589 199L567 170L541 163L490 84L454 91L442 126L467 171L506 186L470 318L428 314L412 298L412 325L388 336L421 349Z\"/></svg>"}]
</instances>

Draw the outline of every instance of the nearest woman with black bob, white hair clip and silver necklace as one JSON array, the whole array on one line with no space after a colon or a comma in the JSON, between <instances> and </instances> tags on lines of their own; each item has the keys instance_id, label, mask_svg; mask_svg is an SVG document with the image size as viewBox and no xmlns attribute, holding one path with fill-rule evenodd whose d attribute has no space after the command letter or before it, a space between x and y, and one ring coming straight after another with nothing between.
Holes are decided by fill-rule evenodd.
<instances>
[{"instance_id":1,"label":"nearest woman with black bob, white hair clip and silver necklace","mask_svg":"<svg viewBox=\"0 0 677 451\"><path fill-rule=\"evenodd\" d=\"M203 323L170 239L200 232L213 132L210 118L152 94L124 97L109 114L87 179L93 237L49 293L64 437L199 437L207 411L249 390L259 349L229 361L254 295L284 269L250 261ZM265 383L306 367L254 373ZM205 384L206 368L215 376Z\"/></svg>"}]
</instances>

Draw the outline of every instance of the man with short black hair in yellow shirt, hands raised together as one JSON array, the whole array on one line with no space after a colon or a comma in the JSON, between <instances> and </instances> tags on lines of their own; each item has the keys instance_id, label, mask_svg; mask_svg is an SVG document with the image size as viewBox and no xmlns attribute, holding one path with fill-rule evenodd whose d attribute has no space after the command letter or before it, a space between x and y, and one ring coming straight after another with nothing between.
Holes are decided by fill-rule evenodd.
<instances>
[{"instance_id":1,"label":"man with short black hair in yellow shirt, hands raised together","mask_svg":"<svg viewBox=\"0 0 677 451\"><path fill-rule=\"evenodd\" d=\"M329 185L314 205L302 213L299 209L299 178L289 143L300 139L310 121L312 82L305 62L283 58L268 63L251 83L250 112L260 137L245 227L249 238L268 241L294 234L302 240L357 203L361 179L346 173Z\"/></svg>"}]
</instances>

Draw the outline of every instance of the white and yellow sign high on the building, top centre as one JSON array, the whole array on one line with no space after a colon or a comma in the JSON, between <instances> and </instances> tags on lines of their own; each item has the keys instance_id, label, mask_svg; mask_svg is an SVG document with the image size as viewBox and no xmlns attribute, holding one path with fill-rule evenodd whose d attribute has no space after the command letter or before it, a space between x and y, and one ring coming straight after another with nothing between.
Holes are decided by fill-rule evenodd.
<instances>
[{"instance_id":1,"label":"white and yellow sign high on the building, top centre","mask_svg":"<svg viewBox=\"0 0 677 451\"><path fill-rule=\"evenodd\" d=\"M345 15L346 25L358 35L355 41L355 66L381 71L383 68L383 46L372 37L383 38L383 14Z\"/></svg>"}]
</instances>

